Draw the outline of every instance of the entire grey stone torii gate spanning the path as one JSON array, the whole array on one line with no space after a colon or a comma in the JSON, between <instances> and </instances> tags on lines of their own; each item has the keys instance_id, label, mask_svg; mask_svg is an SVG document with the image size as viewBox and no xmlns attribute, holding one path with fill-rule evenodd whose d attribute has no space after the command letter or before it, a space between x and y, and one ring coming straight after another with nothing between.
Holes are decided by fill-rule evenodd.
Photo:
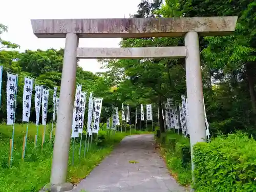
<instances>
[{"instance_id":1,"label":"entire grey stone torii gate spanning the path","mask_svg":"<svg viewBox=\"0 0 256 192\"><path fill-rule=\"evenodd\" d=\"M113 19L32 19L38 38L66 38L63 59L59 109L53 150L50 191L69 191L66 183L70 148L72 114L76 83L77 58L186 58L188 129L191 156L197 142L206 141L203 86L199 38L229 35L237 16L113 18ZM150 48L78 48L79 38L116 37L185 37L185 47ZM194 169L192 163L192 170Z\"/></svg>"}]
</instances>

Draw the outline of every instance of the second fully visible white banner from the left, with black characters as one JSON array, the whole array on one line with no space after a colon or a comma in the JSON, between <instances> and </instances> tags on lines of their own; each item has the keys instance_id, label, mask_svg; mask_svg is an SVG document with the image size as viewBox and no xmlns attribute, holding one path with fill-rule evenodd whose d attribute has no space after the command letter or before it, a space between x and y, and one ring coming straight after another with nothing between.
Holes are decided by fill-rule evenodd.
<instances>
[{"instance_id":1,"label":"second fully visible white banner from the left, with black characters","mask_svg":"<svg viewBox=\"0 0 256 192\"><path fill-rule=\"evenodd\" d=\"M23 115L22 115L23 122L29 122L32 91L33 91L33 80L25 77L24 88L23 88Z\"/></svg>"}]
</instances>

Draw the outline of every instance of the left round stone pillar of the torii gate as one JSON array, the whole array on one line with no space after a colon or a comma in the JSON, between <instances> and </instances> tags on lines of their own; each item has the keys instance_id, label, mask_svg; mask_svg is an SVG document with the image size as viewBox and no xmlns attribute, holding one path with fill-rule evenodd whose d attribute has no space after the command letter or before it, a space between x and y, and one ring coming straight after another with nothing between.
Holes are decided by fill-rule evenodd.
<instances>
[{"instance_id":1,"label":"left round stone pillar of the torii gate","mask_svg":"<svg viewBox=\"0 0 256 192\"><path fill-rule=\"evenodd\" d=\"M53 148L51 170L52 186L62 186L62 184L66 183L68 174L70 137L76 85L77 47L78 36L74 33L67 33L59 95L58 111L61 113L57 115ZM67 186L69 186L70 190L73 189L72 184L66 183L66 187Z\"/></svg>"}]
</instances>

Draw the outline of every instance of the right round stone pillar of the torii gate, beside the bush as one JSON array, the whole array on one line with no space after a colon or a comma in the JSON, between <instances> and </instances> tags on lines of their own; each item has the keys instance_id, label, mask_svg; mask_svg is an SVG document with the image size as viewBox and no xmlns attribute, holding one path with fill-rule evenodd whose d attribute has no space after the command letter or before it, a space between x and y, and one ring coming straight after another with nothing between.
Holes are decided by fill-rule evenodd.
<instances>
[{"instance_id":1,"label":"right round stone pillar of the torii gate, beside the bush","mask_svg":"<svg viewBox=\"0 0 256 192\"><path fill-rule=\"evenodd\" d=\"M186 56L186 88L188 101L188 130L190 134L191 160L193 147L197 142L206 142L205 117L203 106L203 84L201 76L200 51L198 33L190 31L185 35ZM194 163L192 164L192 174ZM193 182L195 177L193 174Z\"/></svg>"}]
</instances>

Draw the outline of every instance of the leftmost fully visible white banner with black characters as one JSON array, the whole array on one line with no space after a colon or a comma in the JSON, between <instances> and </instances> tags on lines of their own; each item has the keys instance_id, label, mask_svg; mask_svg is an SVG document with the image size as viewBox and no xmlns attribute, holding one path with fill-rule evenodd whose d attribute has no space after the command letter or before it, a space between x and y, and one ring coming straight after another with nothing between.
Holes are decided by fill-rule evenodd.
<instances>
[{"instance_id":1,"label":"leftmost fully visible white banner with black characters","mask_svg":"<svg viewBox=\"0 0 256 192\"><path fill-rule=\"evenodd\" d=\"M15 104L17 94L17 75L7 72L6 101L7 101L7 125L12 125L15 118Z\"/></svg>"}]
</instances>

